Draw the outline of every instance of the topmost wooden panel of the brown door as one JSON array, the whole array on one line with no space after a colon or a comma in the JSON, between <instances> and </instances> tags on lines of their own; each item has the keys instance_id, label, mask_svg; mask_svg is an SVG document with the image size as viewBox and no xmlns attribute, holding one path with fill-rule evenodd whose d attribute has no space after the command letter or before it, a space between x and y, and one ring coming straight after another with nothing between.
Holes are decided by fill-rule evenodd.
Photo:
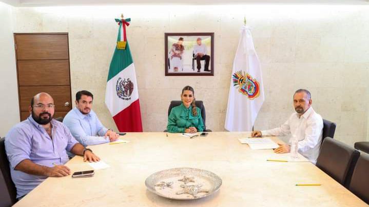
<instances>
[{"instance_id":1,"label":"topmost wooden panel of the brown door","mask_svg":"<svg viewBox=\"0 0 369 207\"><path fill-rule=\"evenodd\" d=\"M16 34L17 60L69 59L68 35Z\"/></svg>"}]
</instances>

